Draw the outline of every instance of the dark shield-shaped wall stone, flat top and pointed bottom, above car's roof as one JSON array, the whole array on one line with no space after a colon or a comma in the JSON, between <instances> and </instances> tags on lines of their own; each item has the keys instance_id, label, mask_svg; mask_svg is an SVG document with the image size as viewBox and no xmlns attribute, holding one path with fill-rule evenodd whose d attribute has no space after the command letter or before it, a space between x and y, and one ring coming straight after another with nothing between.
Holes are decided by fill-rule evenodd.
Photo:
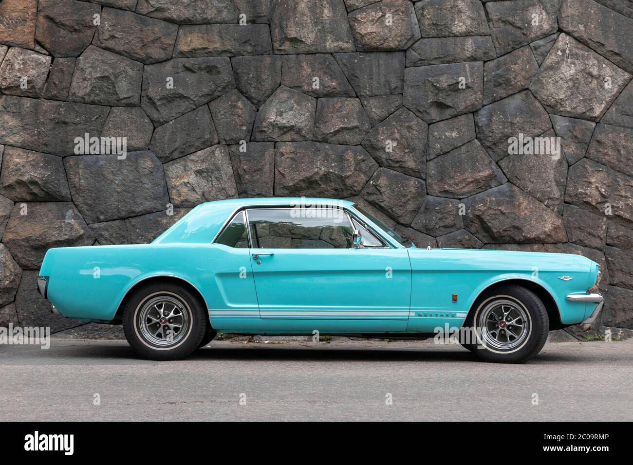
<instances>
[{"instance_id":1,"label":"dark shield-shaped wall stone, flat top and pointed bottom, above car's roof","mask_svg":"<svg viewBox=\"0 0 633 465\"><path fill-rule=\"evenodd\" d=\"M279 87L282 57L278 55L236 56L231 65L237 90L257 107Z\"/></svg>"}]
</instances>

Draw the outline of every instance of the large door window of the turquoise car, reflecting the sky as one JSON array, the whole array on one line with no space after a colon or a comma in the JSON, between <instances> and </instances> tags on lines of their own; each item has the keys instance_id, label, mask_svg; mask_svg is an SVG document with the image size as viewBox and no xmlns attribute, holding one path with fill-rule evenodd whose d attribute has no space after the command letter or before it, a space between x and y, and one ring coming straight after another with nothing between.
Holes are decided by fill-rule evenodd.
<instances>
[{"instance_id":1,"label":"large door window of the turquoise car, reflecting the sky","mask_svg":"<svg viewBox=\"0 0 633 465\"><path fill-rule=\"evenodd\" d=\"M254 247L260 249L349 249L352 227L341 209L298 215L290 208L248 210Z\"/></svg>"}]
</instances>

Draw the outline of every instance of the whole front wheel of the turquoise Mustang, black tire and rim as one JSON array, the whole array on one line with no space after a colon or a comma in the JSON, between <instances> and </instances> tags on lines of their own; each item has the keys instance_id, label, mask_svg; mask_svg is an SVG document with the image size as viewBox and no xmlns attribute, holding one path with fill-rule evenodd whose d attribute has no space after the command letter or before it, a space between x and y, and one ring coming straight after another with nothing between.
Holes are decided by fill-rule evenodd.
<instances>
[{"instance_id":1,"label":"whole front wheel of the turquoise Mustang, black tire and rim","mask_svg":"<svg viewBox=\"0 0 633 465\"><path fill-rule=\"evenodd\" d=\"M509 312L508 316L505 311ZM495 312L497 314L492 316ZM496 319L502 315L503 319ZM492 329L484 330L484 325ZM545 345L549 317L534 292L520 285L503 285L477 299L468 312L465 326L475 328L476 342L462 345L469 345L469 350L481 359L494 363L523 363L536 356ZM523 329L519 331L520 328Z\"/></svg>"}]
</instances>

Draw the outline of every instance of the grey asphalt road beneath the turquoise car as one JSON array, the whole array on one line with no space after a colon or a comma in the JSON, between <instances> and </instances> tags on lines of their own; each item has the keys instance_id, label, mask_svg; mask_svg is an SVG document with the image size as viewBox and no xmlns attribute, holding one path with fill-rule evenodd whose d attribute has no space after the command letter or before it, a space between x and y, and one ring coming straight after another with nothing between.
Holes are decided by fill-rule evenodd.
<instances>
[{"instance_id":1,"label":"grey asphalt road beneath the turquoise car","mask_svg":"<svg viewBox=\"0 0 633 465\"><path fill-rule=\"evenodd\" d=\"M0 345L0 380L0 420L630 421L633 340L501 365L430 342L214 341L156 363L125 342L54 339Z\"/></svg>"}]
</instances>

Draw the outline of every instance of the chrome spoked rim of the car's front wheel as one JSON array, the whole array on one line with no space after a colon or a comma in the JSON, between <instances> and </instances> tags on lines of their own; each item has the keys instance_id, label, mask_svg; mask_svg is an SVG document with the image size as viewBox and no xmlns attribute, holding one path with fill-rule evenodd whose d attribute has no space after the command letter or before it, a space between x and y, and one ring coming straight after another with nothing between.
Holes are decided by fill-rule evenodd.
<instances>
[{"instance_id":1,"label":"chrome spoked rim of the car's front wheel","mask_svg":"<svg viewBox=\"0 0 633 465\"><path fill-rule=\"evenodd\" d=\"M479 314L479 330L486 345L499 350L516 349L530 332L527 311L517 302L492 301Z\"/></svg>"}]
</instances>

